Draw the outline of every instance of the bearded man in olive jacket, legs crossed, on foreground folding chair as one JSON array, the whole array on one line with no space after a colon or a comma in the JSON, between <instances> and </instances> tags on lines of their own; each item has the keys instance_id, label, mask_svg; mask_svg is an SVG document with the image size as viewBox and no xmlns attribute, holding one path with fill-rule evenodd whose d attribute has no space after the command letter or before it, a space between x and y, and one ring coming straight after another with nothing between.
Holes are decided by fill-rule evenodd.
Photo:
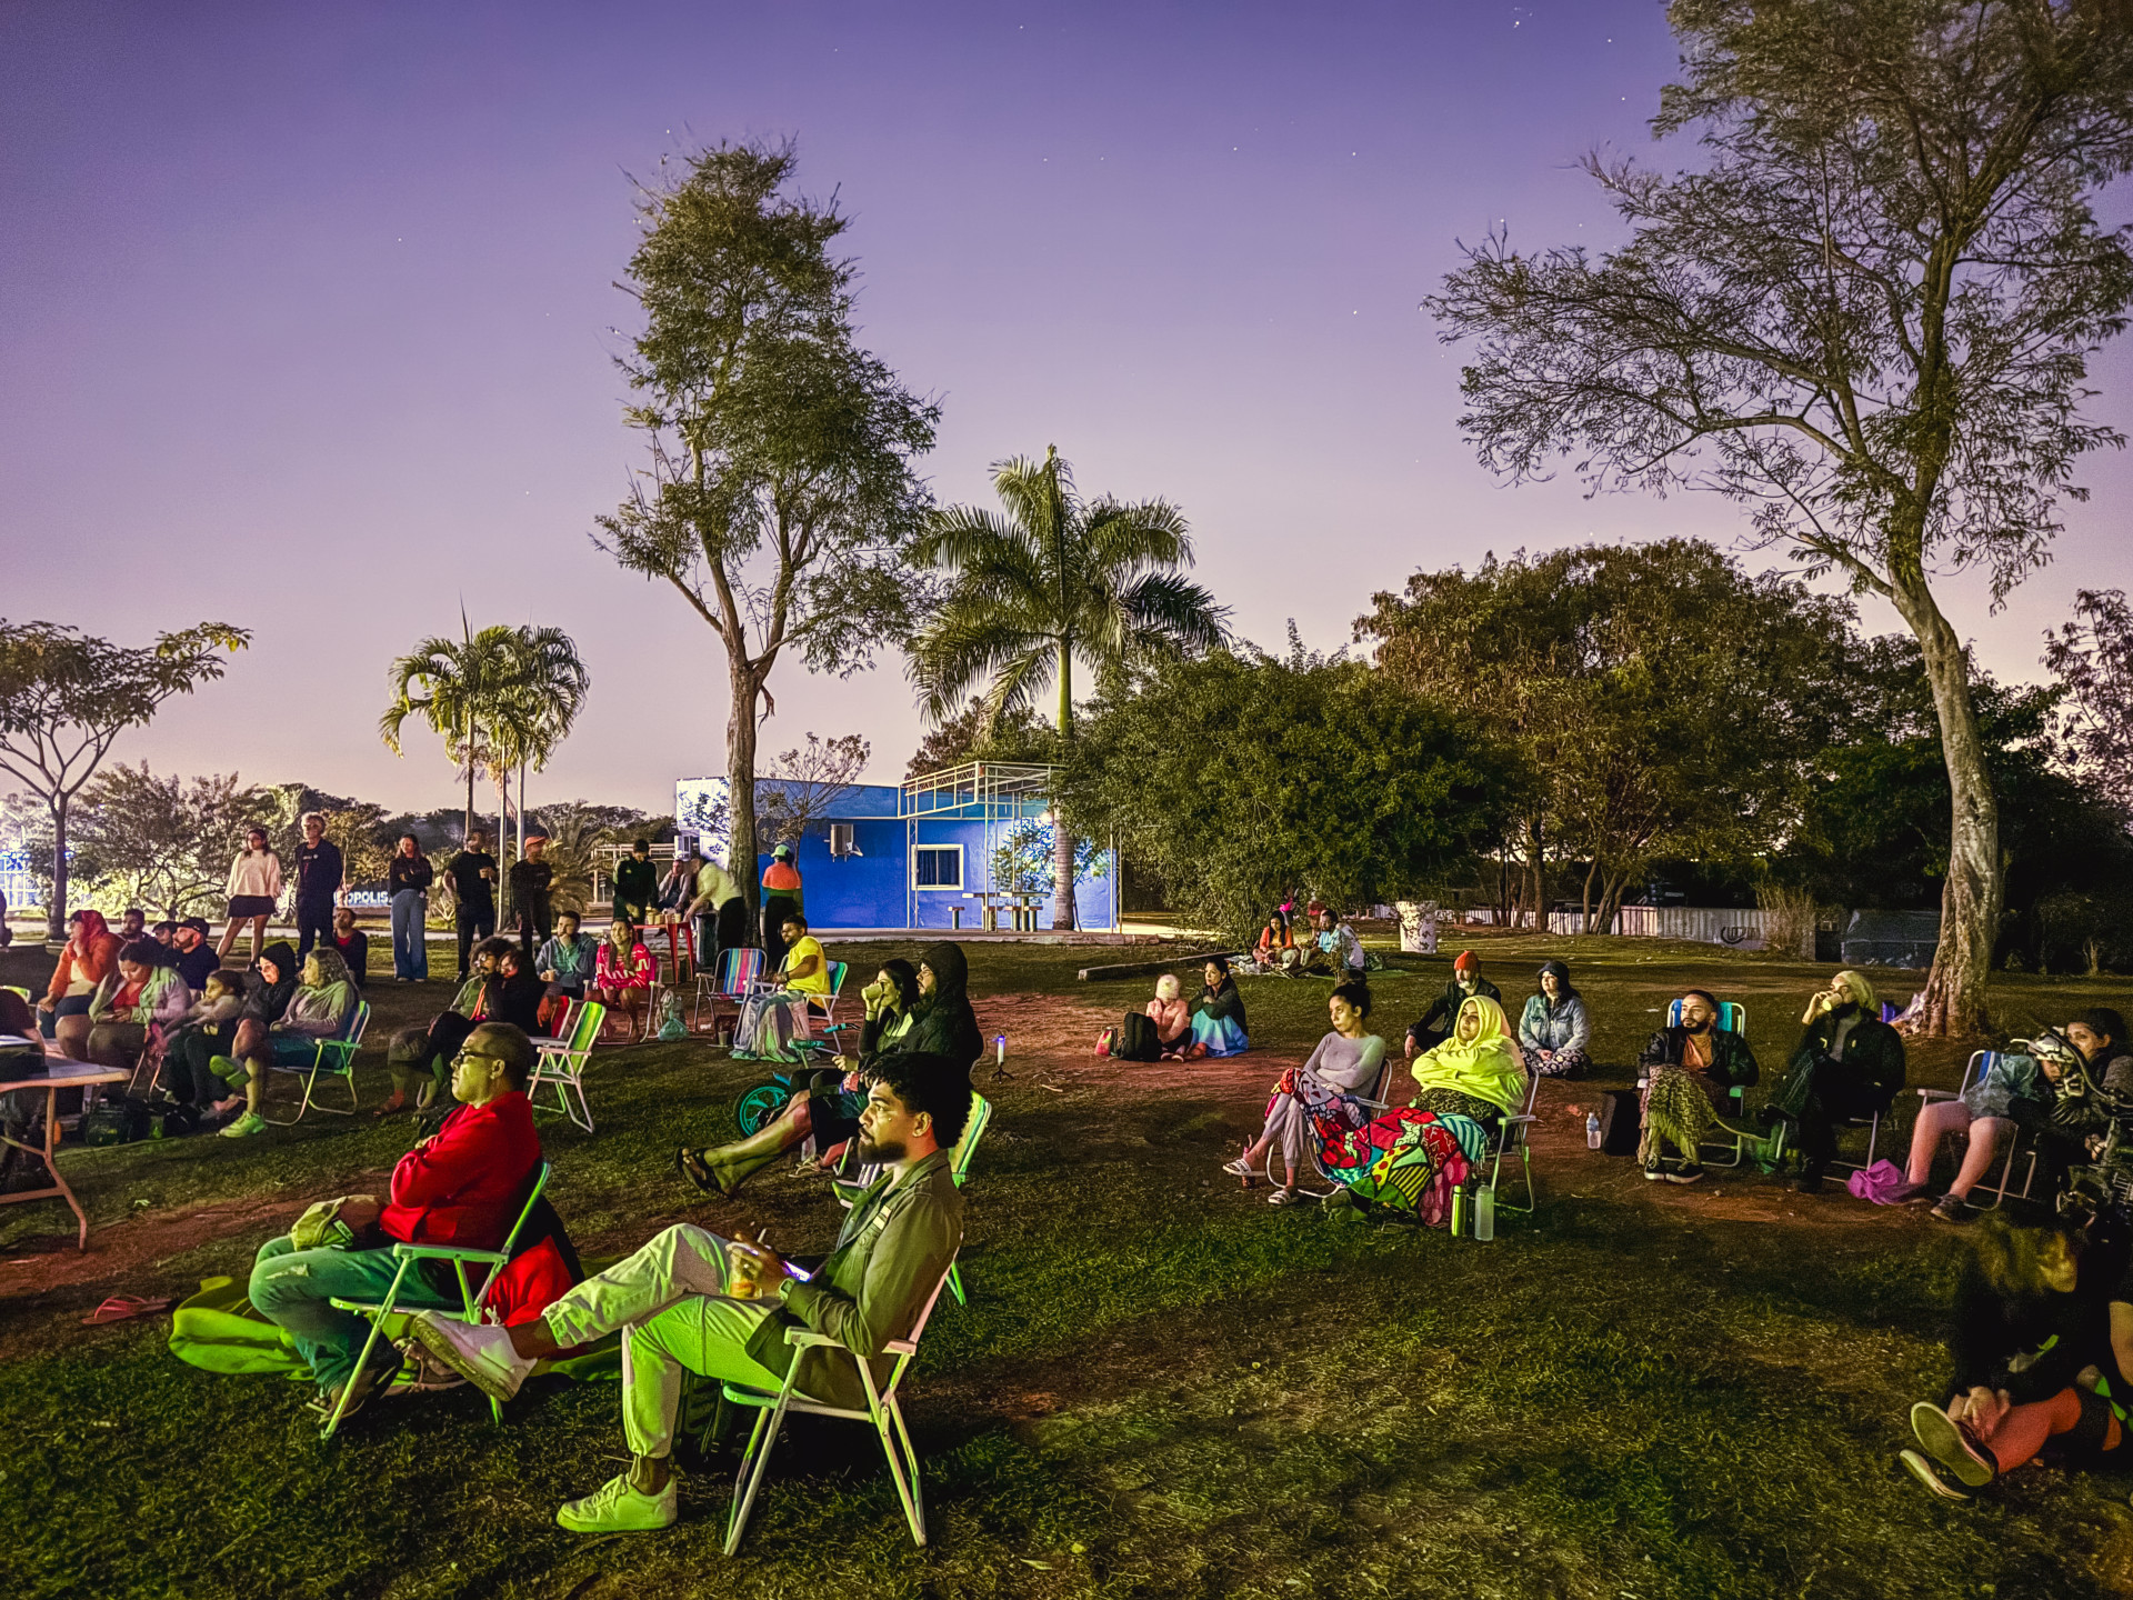
<instances>
[{"instance_id":1,"label":"bearded man in olive jacket, legs crossed, on foreground folding chair","mask_svg":"<svg viewBox=\"0 0 2133 1600\"><path fill-rule=\"evenodd\" d=\"M557 1521L574 1534L621 1534L674 1523L674 1412L683 1372L776 1391L793 1361L800 1393L830 1406L866 1408L866 1389L843 1350L796 1350L785 1331L808 1327L843 1340L885 1382L889 1340L911 1333L962 1246L962 1193L949 1150L971 1116L971 1073L941 1056L885 1056L860 1114L860 1161L883 1175L845 1216L836 1250L811 1278L796 1278L759 1244L721 1239L680 1222L627 1261L587 1278L518 1327L467 1327L416 1316L414 1338L471 1380L508 1399L542 1357L614 1329L627 1389L623 1434L629 1472L567 1502Z\"/></svg>"}]
</instances>

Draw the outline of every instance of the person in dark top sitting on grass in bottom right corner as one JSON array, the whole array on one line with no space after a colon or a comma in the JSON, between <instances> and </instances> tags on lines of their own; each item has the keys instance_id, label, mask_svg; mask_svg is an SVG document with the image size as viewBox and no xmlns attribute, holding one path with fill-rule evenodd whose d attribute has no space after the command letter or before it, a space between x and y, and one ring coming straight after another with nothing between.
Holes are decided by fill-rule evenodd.
<instances>
[{"instance_id":1,"label":"person in dark top sitting on grass in bottom right corner","mask_svg":"<svg viewBox=\"0 0 2133 1600\"><path fill-rule=\"evenodd\" d=\"M1977 1229L1956 1289L1947 1402L1911 1406L1901 1461L1943 1500L1969 1500L2050 1449L2067 1466L2122 1466L2133 1385L2127 1239L2114 1220Z\"/></svg>"}]
</instances>

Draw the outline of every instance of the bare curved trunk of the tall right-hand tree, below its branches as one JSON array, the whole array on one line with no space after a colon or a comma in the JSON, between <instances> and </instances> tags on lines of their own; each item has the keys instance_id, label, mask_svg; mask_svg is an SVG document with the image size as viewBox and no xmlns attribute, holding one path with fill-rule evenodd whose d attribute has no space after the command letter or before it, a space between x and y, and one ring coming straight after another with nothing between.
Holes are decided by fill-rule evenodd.
<instances>
[{"instance_id":1,"label":"bare curved trunk of the tall right-hand tree, below its branches","mask_svg":"<svg viewBox=\"0 0 2133 1600\"><path fill-rule=\"evenodd\" d=\"M1941 719L1941 757L1947 762L1947 794L1954 826L1947 838L1947 879L1941 887L1941 943L1926 977L1926 1003L1918 1033L1960 1039L1986 1030L1986 975L1999 937L2005 879L1999 853L1999 796L1977 736L1977 706L1971 702L1971 663L1941 608L1926 589L1924 574L1896 585L1896 610L1918 636L1932 685L1932 708Z\"/></svg>"}]
</instances>

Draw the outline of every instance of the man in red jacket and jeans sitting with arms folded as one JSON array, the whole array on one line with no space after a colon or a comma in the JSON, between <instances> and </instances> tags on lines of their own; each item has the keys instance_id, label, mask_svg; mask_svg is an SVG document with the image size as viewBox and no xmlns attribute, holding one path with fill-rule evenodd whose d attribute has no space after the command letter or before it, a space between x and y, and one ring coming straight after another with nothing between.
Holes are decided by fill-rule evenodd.
<instances>
[{"instance_id":1,"label":"man in red jacket and jeans sitting with arms folded","mask_svg":"<svg viewBox=\"0 0 2133 1600\"><path fill-rule=\"evenodd\" d=\"M254 1310L288 1329L318 1378L318 1406L339 1404L341 1385L354 1382L354 1412L388 1367L354 1372L369 1338L369 1323L333 1308L335 1299L380 1301L392 1286L399 1261L392 1242L456 1244L497 1250L525 1207L540 1167L540 1135L525 1086L533 1073L533 1043L508 1022L484 1022L452 1058L452 1097L459 1105L435 1135L392 1169L384 1203L352 1195L337 1220L356 1239L384 1235L375 1250L299 1248L292 1235L269 1239L252 1263L247 1297ZM375 1225L375 1227L373 1227ZM435 1269L435 1278L424 1276ZM399 1303L459 1306L450 1267L424 1261L401 1282ZM380 1342L390 1353L390 1346ZM397 1365L397 1359L395 1359ZM348 1412L343 1412L346 1417Z\"/></svg>"}]
</instances>

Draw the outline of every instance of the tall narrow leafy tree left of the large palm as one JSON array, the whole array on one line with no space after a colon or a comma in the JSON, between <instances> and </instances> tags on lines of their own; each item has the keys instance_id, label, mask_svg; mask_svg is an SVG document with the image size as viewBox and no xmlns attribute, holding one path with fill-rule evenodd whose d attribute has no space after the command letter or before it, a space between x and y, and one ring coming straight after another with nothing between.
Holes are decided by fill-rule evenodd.
<instances>
[{"instance_id":1,"label":"tall narrow leafy tree left of the large palm","mask_svg":"<svg viewBox=\"0 0 2133 1600\"><path fill-rule=\"evenodd\" d=\"M738 855L755 838L755 740L787 655L840 676L909 636L913 459L941 407L855 341L836 203L789 192L791 145L719 145L642 188L629 286L644 311L621 369L651 448L593 542L659 578L725 651L725 774ZM749 907L755 864L732 860Z\"/></svg>"}]
</instances>

